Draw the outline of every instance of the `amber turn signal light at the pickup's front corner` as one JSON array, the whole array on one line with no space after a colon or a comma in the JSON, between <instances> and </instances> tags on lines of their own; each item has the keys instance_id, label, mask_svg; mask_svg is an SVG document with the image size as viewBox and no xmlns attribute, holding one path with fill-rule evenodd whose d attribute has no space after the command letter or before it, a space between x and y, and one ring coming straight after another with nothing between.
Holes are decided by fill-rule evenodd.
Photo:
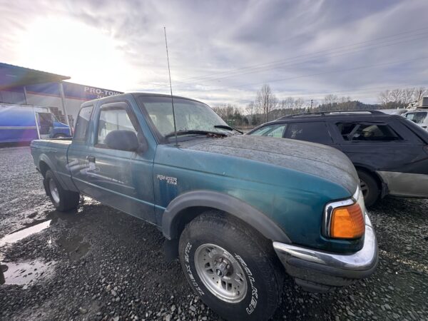
<instances>
[{"instance_id":1,"label":"amber turn signal light at the pickup's front corner","mask_svg":"<svg viewBox=\"0 0 428 321\"><path fill-rule=\"evenodd\" d=\"M364 217L358 203L333 210L330 225L331 238L361 238L364 233Z\"/></svg>"}]
</instances>

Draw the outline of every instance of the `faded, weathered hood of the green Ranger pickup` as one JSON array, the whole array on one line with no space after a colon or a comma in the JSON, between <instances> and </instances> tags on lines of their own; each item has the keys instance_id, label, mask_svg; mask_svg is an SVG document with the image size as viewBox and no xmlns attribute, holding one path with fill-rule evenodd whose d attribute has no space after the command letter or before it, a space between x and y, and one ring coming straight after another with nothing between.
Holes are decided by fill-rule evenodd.
<instances>
[{"instance_id":1,"label":"faded, weathered hood of the green Ranger pickup","mask_svg":"<svg viewBox=\"0 0 428 321\"><path fill-rule=\"evenodd\" d=\"M286 138L230 136L180 143L180 148L247 158L315 175L346 188L359 184L357 171L344 153L330 146Z\"/></svg>"}]
</instances>

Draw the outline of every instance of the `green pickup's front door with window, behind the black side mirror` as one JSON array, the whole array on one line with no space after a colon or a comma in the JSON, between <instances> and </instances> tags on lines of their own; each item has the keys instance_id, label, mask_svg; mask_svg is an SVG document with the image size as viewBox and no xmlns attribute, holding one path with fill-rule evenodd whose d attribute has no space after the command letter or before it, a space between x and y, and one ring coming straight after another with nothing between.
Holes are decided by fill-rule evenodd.
<instances>
[{"instance_id":1,"label":"green pickup's front door with window, behind the black side mirror","mask_svg":"<svg viewBox=\"0 0 428 321\"><path fill-rule=\"evenodd\" d=\"M154 151L120 151L105 143L107 134L115 130L134 131L140 140L144 139L131 107L126 102L106 103L93 119L93 142L85 158L79 160L87 165L81 174L86 193L113 208L155 222Z\"/></svg>"}]
</instances>

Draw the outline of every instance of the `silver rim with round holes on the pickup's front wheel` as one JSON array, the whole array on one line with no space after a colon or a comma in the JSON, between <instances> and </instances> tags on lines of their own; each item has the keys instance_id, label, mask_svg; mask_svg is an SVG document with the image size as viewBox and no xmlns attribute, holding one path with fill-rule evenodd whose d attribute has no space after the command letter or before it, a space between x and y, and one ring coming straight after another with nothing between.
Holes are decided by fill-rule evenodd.
<instances>
[{"instance_id":1,"label":"silver rim with round holes on the pickup's front wheel","mask_svg":"<svg viewBox=\"0 0 428 321\"><path fill-rule=\"evenodd\" d=\"M195 268L203 285L225 302L238 303L247 294L243 268L224 248L203 244L195 251Z\"/></svg>"}]
</instances>

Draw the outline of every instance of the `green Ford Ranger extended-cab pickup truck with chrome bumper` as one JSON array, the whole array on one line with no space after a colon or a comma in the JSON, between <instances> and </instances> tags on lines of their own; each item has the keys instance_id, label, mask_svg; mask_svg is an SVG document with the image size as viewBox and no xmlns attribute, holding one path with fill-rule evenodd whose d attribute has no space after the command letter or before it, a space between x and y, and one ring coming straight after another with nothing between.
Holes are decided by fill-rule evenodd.
<instances>
[{"instance_id":1,"label":"green Ford Ranger extended-cab pickup truck with chrome bumper","mask_svg":"<svg viewBox=\"0 0 428 321\"><path fill-rule=\"evenodd\" d=\"M193 99L88 101L72 141L33 141L31 154L57 210L88 195L158 226L165 257L179 258L193 290L228 320L272 316L285 272L323 292L377 265L357 172L342 152L240 135Z\"/></svg>"}]
</instances>

